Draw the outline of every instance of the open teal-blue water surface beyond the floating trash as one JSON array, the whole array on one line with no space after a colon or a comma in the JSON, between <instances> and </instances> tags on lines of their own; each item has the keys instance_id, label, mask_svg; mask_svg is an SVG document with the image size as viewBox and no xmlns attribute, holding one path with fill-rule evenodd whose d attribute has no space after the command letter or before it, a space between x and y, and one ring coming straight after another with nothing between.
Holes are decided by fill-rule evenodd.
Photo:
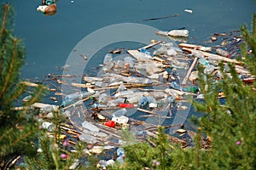
<instances>
[{"instance_id":1,"label":"open teal-blue water surface beyond the floating trash","mask_svg":"<svg viewBox=\"0 0 256 170\"><path fill-rule=\"evenodd\" d=\"M189 42L201 44L213 33L239 30L243 24L250 26L255 12L253 1L242 0L59 0L57 13L46 16L36 10L40 0L2 2L15 6L15 35L24 39L26 45L22 77L30 79L42 79L49 73L61 74L58 68L65 65L76 44L105 26L129 22L163 31L185 27L189 30ZM191 9L193 13L186 13L184 9ZM180 15L144 20L174 14Z\"/></svg>"}]
</instances>

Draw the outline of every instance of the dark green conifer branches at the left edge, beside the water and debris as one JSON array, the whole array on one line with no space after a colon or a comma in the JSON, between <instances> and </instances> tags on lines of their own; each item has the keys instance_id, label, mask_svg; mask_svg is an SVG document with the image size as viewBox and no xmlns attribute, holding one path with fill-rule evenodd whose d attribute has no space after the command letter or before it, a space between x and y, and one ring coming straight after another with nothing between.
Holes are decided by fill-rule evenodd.
<instances>
[{"instance_id":1,"label":"dark green conifer branches at the left edge, beside the water and debris","mask_svg":"<svg viewBox=\"0 0 256 170\"><path fill-rule=\"evenodd\" d=\"M9 4L0 5L0 169L8 169L20 156L32 156L38 125L34 112L28 107L44 88L34 89L33 97L24 110L15 111L20 96L26 93L26 84L20 81L20 68L25 48L13 35L14 10Z\"/></svg>"}]
</instances>

